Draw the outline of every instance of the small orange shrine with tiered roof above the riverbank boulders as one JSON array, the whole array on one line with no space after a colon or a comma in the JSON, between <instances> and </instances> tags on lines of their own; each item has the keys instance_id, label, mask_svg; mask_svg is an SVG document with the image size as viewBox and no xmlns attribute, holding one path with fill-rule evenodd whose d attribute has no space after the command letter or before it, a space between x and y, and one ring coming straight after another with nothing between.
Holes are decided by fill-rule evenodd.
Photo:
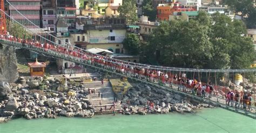
<instances>
[{"instance_id":1,"label":"small orange shrine with tiered roof above the riverbank boulders","mask_svg":"<svg viewBox=\"0 0 256 133\"><path fill-rule=\"evenodd\" d=\"M44 76L46 64L44 62L38 62L36 58L36 62L28 63L30 68L30 76Z\"/></svg>"}]
</instances>

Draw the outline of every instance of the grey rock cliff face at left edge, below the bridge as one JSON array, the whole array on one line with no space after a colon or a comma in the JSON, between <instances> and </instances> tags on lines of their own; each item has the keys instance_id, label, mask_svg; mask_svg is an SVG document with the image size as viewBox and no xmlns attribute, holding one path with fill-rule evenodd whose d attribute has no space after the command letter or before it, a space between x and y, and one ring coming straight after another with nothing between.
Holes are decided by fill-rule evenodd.
<instances>
[{"instance_id":1,"label":"grey rock cliff face at left edge, below the bridge","mask_svg":"<svg viewBox=\"0 0 256 133\"><path fill-rule=\"evenodd\" d=\"M15 82L18 78L15 48L0 44L0 81Z\"/></svg>"}]
</instances>

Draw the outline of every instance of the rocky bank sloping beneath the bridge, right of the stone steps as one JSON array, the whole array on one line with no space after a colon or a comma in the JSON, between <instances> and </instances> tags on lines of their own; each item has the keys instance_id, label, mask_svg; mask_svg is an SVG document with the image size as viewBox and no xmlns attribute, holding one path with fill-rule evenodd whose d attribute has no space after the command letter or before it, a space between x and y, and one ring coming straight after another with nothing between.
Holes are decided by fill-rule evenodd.
<instances>
[{"instance_id":1,"label":"rocky bank sloping beneath the bridge, right of the stone steps","mask_svg":"<svg viewBox=\"0 0 256 133\"><path fill-rule=\"evenodd\" d=\"M122 100L123 114L126 115L196 113L201 108L213 108L182 95L142 84L134 85L126 94L119 95L118 99ZM150 103L153 103L153 106L150 106Z\"/></svg>"}]
</instances>

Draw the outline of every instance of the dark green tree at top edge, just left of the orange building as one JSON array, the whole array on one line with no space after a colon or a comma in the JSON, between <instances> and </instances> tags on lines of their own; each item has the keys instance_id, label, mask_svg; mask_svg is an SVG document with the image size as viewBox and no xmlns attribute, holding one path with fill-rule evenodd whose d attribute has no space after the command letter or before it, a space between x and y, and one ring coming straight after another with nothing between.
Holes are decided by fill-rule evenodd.
<instances>
[{"instance_id":1,"label":"dark green tree at top edge, just left of the orange building","mask_svg":"<svg viewBox=\"0 0 256 133\"><path fill-rule=\"evenodd\" d=\"M144 0L142 3L142 12L144 16L149 17L150 21L155 21L157 17L157 10L153 8L152 1Z\"/></svg>"}]
</instances>

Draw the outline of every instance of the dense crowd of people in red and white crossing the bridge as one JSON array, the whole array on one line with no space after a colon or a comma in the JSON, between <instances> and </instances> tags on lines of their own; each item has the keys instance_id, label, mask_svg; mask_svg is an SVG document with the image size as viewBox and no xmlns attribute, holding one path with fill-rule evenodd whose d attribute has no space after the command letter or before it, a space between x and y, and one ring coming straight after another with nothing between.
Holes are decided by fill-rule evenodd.
<instances>
[{"instance_id":1,"label":"dense crowd of people in red and white crossing the bridge","mask_svg":"<svg viewBox=\"0 0 256 133\"><path fill-rule=\"evenodd\" d=\"M178 76L177 74L173 75L167 71L160 71L158 68L130 65L127 62L114 60L108 56L87 53L85 50L73 48L71 45L62 46L48 42L40 43L34 39L20 39L7 34L0 35L0 39L18 42L23 46L34 47L44 51L55 51L59 54L77 58L81 62L97 65L98 67L103 67L104 69L111 69L127 76L147 80L148 82L158 82L159 85L166 86L166 84L169 84L169 87L173 87L173 84L176 84L178 85L179 91L192 93L203 98L210 99L213 92L217 96L219 95L219 92L221 92L220 89L217 89L218 86L212 85L211 82L205 84L197 81L195 78L186 78L186 76ZM250 93L239 94L238 92L234 93L233 91L230 91L227 94L224 93L221 95L225 97L227 105L231 104L231 106L235 105L235 107L240 107L240 105L243 105L243 108L246 108L246 106L248 106L249 109L251 108L252 97Z\"/></svg>"}]
</instances>

